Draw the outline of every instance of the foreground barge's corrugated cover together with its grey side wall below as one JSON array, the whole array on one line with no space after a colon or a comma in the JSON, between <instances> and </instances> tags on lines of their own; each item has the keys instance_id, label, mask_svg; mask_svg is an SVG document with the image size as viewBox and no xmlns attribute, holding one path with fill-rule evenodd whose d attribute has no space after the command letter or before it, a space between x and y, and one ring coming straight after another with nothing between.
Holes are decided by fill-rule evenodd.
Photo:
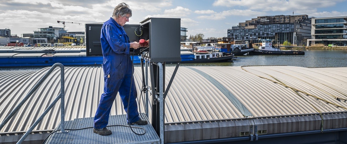
<instances>
[{"instance_id":1,"label":"foreground barge's corrugated cover together with its grey side wall below","mask_svg":"<svg viewBox=\"0 0 347 144\"><path fill-rule=\"evenodd\" d=\"M253 118L245 118L206 75L192 68L202 71L226 88L248 109ZM48 69L0 71L1 122ZM166 79L170 79L173 71L174 67L166 67ZM260 130L262 134L321 130L322 118L323 131L345 128L346 75L346 67L180 67L166 98L166 133L204 132L202 134L206 135L200 137L204 139L247 136ZM134 76L139 88L142 85L141 68L135 67ZM57 68L0 132L27 130L59 94L59 78ZM66 67L65 80L66 121L93 117L103 92L102 68ZM140 110L144 112L143 104ZM59 112L59 105L54 106L34 130L54 129L60 121ZM120 114L125 112L118 96L111 115ZM215 133L205 133L202 128ZM222 135L222 132L231 129L235 132ZM165 139L170 140L167 142L196 140L189 135L178 136Z\"/></svg>"}]
</instances>

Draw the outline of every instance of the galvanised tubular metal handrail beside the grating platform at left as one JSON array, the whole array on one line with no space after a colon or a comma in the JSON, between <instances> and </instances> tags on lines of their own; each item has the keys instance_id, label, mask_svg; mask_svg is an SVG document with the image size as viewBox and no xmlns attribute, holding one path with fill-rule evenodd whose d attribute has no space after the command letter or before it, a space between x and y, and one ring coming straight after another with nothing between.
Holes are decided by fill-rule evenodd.
<instances>
[{"instance_id":1,"label":"galvanised tubular metal handrail beside the grating platform at left","mask_svg":"<svg viewBox=\"0 0 347 144\"><path fill-rule=\"evenodd\" d=\"M66 133L65 131L65 75L64 75L64 66L60 63L54 64L47 73L39 80L38 83L29 91L29 93L23 98L22 101L12 110L12 112L5 118L5 120L0 124L0 129L2 129L5 124L17 113L20 107L23 106L23 104L28 100L28 98L36 91L37 88L43 83L43 81L52 73L54 68L60 67L60 93L54 99L54 101L48 106L48 108L45 109L43 114L35 121L35 123L28 129L28 131L20 138L20 140L17 142L17 144L21 144L25 138L33 131L33 129L41 122L43 117L50 111L50 109L57 103L57 101L60 100L60 111L61 111L61 122L60 122L60 130L61 133Z\"/></svg>"}]
</instances>

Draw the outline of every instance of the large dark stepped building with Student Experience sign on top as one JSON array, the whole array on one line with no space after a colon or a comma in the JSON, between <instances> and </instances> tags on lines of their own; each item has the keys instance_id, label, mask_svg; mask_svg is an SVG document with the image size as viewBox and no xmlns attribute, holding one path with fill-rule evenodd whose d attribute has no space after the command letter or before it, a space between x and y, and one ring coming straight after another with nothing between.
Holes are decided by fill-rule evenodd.
<instances>
[{"instance_id":1,"label":"large dark stepped building with Student Experience sign on top","mask_svg":"<svg viewBox=\"0 0 347 144\"><path fill-rule=\"evenodd\" d=\"M253 43L258 43L258 39L273 39L280 44L288 41L302 46L311 39L311 18L307 15L260 16L228 29L228 37Z\"/></svg>"}]
</instances>

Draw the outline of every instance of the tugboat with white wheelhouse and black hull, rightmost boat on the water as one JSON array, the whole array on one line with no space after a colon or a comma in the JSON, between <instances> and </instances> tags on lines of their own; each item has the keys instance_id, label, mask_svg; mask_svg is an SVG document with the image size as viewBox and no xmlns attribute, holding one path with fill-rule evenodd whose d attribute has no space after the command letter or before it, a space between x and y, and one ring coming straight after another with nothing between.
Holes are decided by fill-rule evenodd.
<instances>
[{"instance_id":1,"label":"tugboat with white wheelhouse and black hull, rightmost boat on the water","mask_svg":"<svg viewBox=\"0 0 347 144\"><path fill-rule=\"evenodd\" d=\"M279 47L272 45L272 40L262 39L262 46L254 49L249 55L305 55L303 50L280 50Z\"/></svg>"}]
</instances>

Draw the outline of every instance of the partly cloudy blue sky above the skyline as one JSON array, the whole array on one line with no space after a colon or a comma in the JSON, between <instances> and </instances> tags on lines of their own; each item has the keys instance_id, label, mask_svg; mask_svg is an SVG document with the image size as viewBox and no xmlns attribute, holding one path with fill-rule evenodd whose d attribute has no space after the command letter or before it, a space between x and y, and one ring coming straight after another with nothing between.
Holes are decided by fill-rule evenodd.
<instances>
[{"instance_id":1,"label":"partly cloudy blue sky above the skyline","mask_svg":"<svg viewBox=\"0 0 347 144\"><path fill-rule=\"evenodd\" d=\"M347 16L347 0L0 0L0 29L21 37L39 28L63 27L85 31L85 23L107 21L113 9L125 2L133 15L127 24L149 17L180 18L187 36L226 37L227 30L257 16L308 15Z\"/></svg>"}]
</instances>

